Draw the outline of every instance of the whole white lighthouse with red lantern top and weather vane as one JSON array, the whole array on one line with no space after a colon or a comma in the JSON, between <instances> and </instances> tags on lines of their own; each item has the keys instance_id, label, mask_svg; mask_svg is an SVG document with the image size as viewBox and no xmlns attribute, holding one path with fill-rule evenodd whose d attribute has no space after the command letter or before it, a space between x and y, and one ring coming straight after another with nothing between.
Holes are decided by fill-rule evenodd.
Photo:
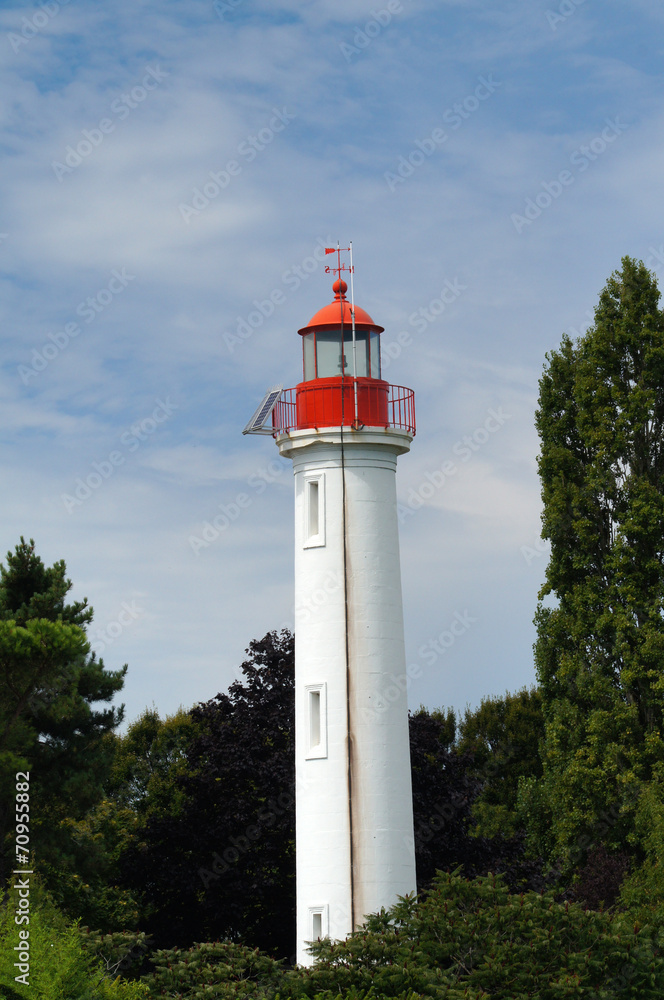
<instances>
[{"instance_id":1,"label":"whole white lighthouse with red lantern top and weather vane","mask_svg":"<svg viewBox=\"0 0 664 1000\"><path fill-rule=\"evenodd\" d=\"M381 377L383 328L334 300L298 331L302 381L245 432L273 434L295 479L297 961L415 891L397 458L414 394ZM351 285L352 287L352 285ZM271 418L271 425L269 420Z\"/></svg>"}]
</instances>

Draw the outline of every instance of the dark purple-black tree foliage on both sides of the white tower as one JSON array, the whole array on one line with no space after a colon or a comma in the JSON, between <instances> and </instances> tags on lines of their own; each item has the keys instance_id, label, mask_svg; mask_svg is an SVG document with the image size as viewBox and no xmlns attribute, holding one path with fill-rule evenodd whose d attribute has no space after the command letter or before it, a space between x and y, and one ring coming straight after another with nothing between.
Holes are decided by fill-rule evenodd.
<instances>
[{"instance_id":1,"label":"dark purple-black tree foliage on both sides of the white tower","mask_svg":"<svg viewBox=\"0 0 664 1000\"><path fill-rule=\"evenodd\" d=\"M177 771L165 775L160 797L150 792L149 783L148 794L141 791L143 779L140 787L132 780L132 802L144 818L124 852L122 884L140 895L141 927L160 947L227 939L290 958L295 944L293 636L268 633L250 643L247 652L242 681L192 709L197 732L179 744L186 765L179 761ZM144 775L142 758L154 742L143 743L153 728L146 718L128 734L127 747L131 743L133 749L123 767L127 770L134 752L141 758L128 774ZM455 734L449 711L420 710L411 716L420 888L436 869L459 865L468 874L503 871L511 884L532 884L531 870L521 864L520 842L472 836L472 805L486 776L473 770L472 754L456 751Z\"/></svg>"}]
</instances>

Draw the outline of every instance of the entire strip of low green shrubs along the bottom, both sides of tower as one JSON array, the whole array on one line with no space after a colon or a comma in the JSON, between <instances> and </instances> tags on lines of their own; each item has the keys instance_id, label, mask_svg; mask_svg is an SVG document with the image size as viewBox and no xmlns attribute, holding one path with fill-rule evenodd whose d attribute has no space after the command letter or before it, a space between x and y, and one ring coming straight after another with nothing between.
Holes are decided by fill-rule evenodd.
<instances>
[{"instance_id":1,"label":"entire strip of low green shrubs along the bottom, both sides of tower","mask_svg":"<svg viewBox=\"0 0 664 1000\"><path fill-rule=\"evenodd\" d=\"M440 873L420 901L370 916L347 941L312 945L311 968L284 969L228 942L153 956L144 976L155 1000L658 1000L664 930L510 894L499 876Z\"/></svg>"}]
</instances>

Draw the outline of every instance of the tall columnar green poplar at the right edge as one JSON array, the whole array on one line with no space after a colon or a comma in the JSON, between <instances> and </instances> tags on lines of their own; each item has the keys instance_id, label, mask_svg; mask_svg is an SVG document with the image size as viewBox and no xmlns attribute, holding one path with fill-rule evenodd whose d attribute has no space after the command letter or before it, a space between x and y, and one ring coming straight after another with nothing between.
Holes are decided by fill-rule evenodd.
<instances>
[{"instance_id":1,"label":"tall columnar green poplar at the right edge","mask_svg":"<svg viewBox=\"0 0 664 1000\"><path fill-rule=\"evenodd\" d=\"M664 760L664 314L629 257L595 321L547 355L537 430L551 558L536 616L543 779L523 782L534 839L583 860L633 834ZM549 598L545 603L544 599Z\"/></svg>"}]
</instances>

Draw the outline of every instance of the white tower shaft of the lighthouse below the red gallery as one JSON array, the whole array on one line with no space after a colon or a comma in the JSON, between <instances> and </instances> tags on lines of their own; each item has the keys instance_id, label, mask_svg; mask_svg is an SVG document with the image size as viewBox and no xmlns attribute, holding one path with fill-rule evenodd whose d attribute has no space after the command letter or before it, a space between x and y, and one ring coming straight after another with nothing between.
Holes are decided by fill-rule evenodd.
<instances>
[{"instance_id":1,"label":"white tower shaft of the lighthouse below the red gallery","mask_svg":"<svg viewBox=\"0 0 664 1000\"><path fill-rule=\"evenodd\" d=\"M295 474L295 687L298 961L318 926L344 938L415 889L396 460L411 437L344 430L350 691L346 678L339 429L277 439ZM311 536L310 482L318 484ZM326 746L310 746L307 705L327 702ZM349 783L348 718L351 734ZM352 801L349 801L349 787Z\"/></svg>"}]
</instances>

